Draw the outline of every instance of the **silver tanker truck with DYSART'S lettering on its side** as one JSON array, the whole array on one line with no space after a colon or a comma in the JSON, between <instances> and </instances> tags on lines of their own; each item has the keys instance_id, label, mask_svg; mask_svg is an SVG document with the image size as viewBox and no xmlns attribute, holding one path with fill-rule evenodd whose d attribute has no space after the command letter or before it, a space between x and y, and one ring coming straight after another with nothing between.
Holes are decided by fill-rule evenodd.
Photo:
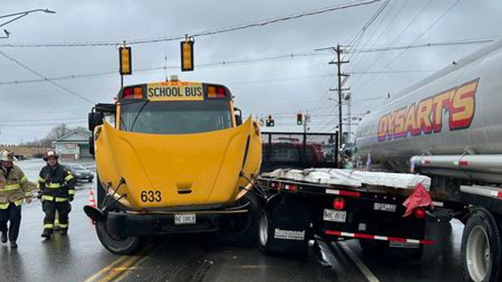
<instances>
[{"instance_id":1,"label":"silver tanker truck with DYSART'S lettering on its side","mask_svg":"<svg viewBox=\"0 0 502 282\"><path fill-rule=\"evenodd\" d=\"M373 167L431 178L434 210L465 228L467 281L502 277L502 41L453 62L396 95L358 126L357 148Z\"/></svg>"}]
</instances>

